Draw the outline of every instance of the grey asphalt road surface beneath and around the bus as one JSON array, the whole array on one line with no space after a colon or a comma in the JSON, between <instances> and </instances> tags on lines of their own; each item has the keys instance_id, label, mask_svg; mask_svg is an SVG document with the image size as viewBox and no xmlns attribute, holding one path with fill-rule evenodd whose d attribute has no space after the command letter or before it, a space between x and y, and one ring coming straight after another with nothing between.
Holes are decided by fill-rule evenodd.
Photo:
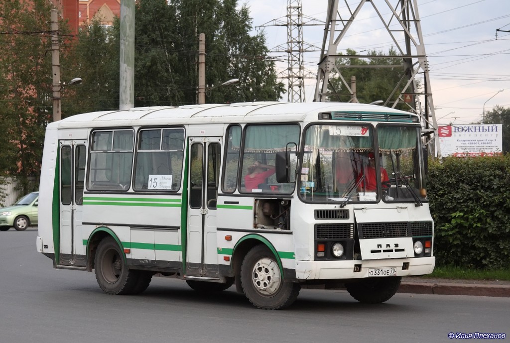
<instances>
[{"instance_id":1,"label":"grey asphalt road surface beneath and around the bus","mask_svg":"<svg viewBox=\"0 0 510 343\"><path fill-rule=\"evenodd\" d=\"M140 296L109 296L94 273L53 269L36 236L0 232L0 343L419 343L476 332L510 340L510 298L399 293L366 305L345 291L302 289L290 309L265 311L234 287L200 296L157 277Z\"/></svg>"}]
</instances>

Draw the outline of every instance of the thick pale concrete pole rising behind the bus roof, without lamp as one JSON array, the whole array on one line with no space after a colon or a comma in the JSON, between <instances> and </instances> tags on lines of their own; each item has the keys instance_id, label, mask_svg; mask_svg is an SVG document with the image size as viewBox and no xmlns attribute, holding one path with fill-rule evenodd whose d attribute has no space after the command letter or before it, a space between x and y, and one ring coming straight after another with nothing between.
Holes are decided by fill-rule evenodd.
<instances>
[{"instance_id":1,"label":"thick pale concrete pole rising behind the bus roof, without lamp","mask_svg":"<svg viewBox=\"0 0 510 343\"><path fill-rule=\"evenodd\" d=\"M119 109L135 107L135 0L120 1Z\"/></svg>"}]
</instances>

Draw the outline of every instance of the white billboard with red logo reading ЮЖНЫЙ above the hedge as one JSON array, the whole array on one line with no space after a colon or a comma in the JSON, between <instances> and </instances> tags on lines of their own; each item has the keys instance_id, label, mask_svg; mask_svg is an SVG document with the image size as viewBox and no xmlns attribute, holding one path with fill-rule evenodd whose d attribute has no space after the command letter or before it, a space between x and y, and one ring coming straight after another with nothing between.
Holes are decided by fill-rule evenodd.
<instances>
[{"instance_id":1,"label":"white billboard with red logo reading \u042e\u0416\u041d\u042b\u0419 above the hedge","mask_svg":"<svg viewBox=\"0 0 510 343\"><path fill-rule=\"evenodd\" d=\"M438 126L441 155L481 156L501 154L501 124Z\"/></svg>"}]
</instances>

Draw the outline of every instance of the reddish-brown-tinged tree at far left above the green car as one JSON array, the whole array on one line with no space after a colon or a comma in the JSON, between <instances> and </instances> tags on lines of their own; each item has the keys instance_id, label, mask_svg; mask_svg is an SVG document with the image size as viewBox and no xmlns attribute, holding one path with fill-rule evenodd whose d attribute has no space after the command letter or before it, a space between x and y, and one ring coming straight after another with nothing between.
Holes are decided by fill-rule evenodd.
<instances>
[{"instance_id":1,"label":"reddish-brown-tinged tree at far left above the green car","mask_svg":"<svg viewBox=\"0 0 510 343\"><path fill-rule=\"evenodd\" d=\"M52 61L46 0L0 2L0 167L23 193L39 184L46 124L52 118Z\"/></svg>"}]
</instances>

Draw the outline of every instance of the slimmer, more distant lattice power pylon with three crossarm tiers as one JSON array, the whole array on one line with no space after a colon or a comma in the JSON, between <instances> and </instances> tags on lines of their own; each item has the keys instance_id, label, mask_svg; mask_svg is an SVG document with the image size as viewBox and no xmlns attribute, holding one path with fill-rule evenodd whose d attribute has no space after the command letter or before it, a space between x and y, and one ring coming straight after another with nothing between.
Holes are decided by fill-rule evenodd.
<instances>
[{"instance_id":1,"label":"slimmer, more distant lattice power pylon with three crossarm tiers","mask_svg":"<svg viewBox=\"0 0 510 343\"><path fill-rule=\"evenodd\" d=\"M307 21L303 21L303 19ZM287 101L304 102L304 79L316 78L304 70L303 52L319 51L319 48L303 42L303 26L324 25L324 22L311 17L303 16L301 0L288 0L286 20L273 19L261 26L287 27L287 45L278 45L270 52L287 52L288 67L278 74L279 78L288 80Z\"/></svg>"}]
</instances>

